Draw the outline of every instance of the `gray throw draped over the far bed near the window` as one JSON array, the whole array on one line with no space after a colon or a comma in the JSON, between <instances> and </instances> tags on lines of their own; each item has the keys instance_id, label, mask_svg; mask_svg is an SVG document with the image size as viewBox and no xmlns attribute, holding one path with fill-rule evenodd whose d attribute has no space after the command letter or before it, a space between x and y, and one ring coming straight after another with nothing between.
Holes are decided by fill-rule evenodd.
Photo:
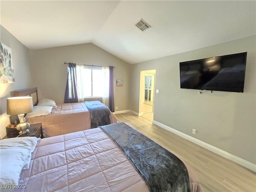
<instances>
[{"instance_id":1,"label":"gray throw draped over the far bed near the window","mask_svg":"<svg viewBox=\"0 0 256 192\"><path fill-rule=\"evenodd\" d=\"M110 110L100 101L85 101L90 112L91 128L110 124Z\"/></svg>"}]
</instances>

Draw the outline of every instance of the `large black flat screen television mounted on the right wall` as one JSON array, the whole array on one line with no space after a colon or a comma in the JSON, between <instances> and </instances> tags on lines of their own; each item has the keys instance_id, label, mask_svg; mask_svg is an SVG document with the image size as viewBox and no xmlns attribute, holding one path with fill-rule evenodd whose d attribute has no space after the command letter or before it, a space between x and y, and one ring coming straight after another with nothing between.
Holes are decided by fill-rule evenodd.
<instances>
[{"instance_id":1,"label":"large black flat screen television mounted on the right wall","mask_svg":"<svg viewBox=\"0 0 256 192\"><path fill-rule=\"evenodd\" d=\"M180 62L180 88L244 92L247 52Z\"/></svg>"}]
</instances>

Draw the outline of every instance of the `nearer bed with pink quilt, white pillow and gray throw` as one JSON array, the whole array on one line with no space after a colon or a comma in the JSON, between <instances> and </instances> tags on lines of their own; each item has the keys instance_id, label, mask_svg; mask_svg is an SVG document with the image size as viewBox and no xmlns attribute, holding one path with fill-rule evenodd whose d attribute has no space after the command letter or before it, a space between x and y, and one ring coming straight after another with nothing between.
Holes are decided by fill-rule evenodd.
<instances>
[{"instance_id":1,"label":"nearer bed with pink quilt, white pillow and gray throw","mask_svg":"<svg viewBox=\"0 0 256 192\"><path fill-rule=\"evenodd\" d=\"M120 129L123 131L120 132ZM138 162L139 164L134 163L134 160L132 159L133 153L130 153L130 150L127 152L125 147L122 148L123 146L118 141L118 138L112 134L119 134L116 136L123 137L126 136L127 130L131 130L132 134L136 135L128 135L127 138L132 146L140 148L140 150L135 150L136 152L141 152L139 153L140 155L136 157L137 159L140 159ZM159 166L151 167L151 170L153 168L155 171L154 174L151 174L151 178L147 177L147 174L150 174L151 171L146 172L145 176L145 174L141 172L140 167L145 167L147 171L152 164L152 160L148 161L148 158L145 158L146 154L144 153L144 149L148 149L149 147L150 151L156 152L156 157L158 158L156 158L155 161L164 159L162 150L166 149L123 122L50 138L30 138L31 140L34 139L34 148L32 147L30 151L32 154L28 168L21 171L21 167L20 174L16 173L16 178L11 178L13 180L10 179L11 181L5 181L4 184L2 182L4 174L1 174L1 185L4 186L4 188L6 188L6 186L10 187L10 185L8 185L9 182L12 183L11 187L14 185L18 186L18 189L14 191L34 192L164 191L166 186L168 189L166 191L172 192L202 191L200 182L191 168L189 168L186 162L181 161L169 151L168 152L172 154L174 158L168 159L165 164L161 162ZM1 140L1 150L5 140ZM143 142L146 142L146 144L143 145ZM158 150L154 150L152 144L154 144L154 148L157 148ZM13 148L15 149L18 147L19 145L16 144ZM159 152L159 150L161 152ZM15 155L18 154L15 153ZM157 163L155 161L154 165ZM161 180L164 178L162 168L170 166L171 170L172 165L174 164L173 162L175 161L179 162L180 165L178 165L177 171L175 168L175 170L170 172L168 177L170 177L172 181L166 183L165 179ZM20 164L24 164L24 162L20 162ZM178 172L179 167L182 167L180 170L183 170L183 172ZM169 168L166 170L168 171ZM1 170L1 172L2 171L4 170ZM12 172L13 168L8 169L7 167L6 171ZM152 186L150 182L148 183L148 180L155 180L157 176L160 176L160 185L157 183ZM177 180L180 180L180 178L183 177L188 178L186 183L179 183L177 185ZM18 183L15 184L15 182ZM162 184L162 182L164 182L164 184ZM4 190L4 188L2 188L2 190Z\"/></svg>"}]
</instances>

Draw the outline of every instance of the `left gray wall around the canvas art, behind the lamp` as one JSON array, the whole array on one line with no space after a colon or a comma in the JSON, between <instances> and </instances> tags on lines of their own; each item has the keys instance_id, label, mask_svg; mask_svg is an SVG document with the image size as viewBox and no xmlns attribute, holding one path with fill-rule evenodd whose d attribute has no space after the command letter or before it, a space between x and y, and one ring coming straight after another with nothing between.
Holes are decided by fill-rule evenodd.
<instances>
[{"instance_id":1,"label":"left gray wall around the canvas art, behind the lamp","mask_svg":"<svg viewBox=\"0 0 256 192\"><path fill-rule=\"evenodd\" d=\"M29 50L18 41L3 26L1 27L1 42L12 49L12 62L15 82L0 84L0 138L6 136L6 126L10 124L10 115L6 114L6 99L14 90L31 86Z\"/></svg>"}]
</instances>

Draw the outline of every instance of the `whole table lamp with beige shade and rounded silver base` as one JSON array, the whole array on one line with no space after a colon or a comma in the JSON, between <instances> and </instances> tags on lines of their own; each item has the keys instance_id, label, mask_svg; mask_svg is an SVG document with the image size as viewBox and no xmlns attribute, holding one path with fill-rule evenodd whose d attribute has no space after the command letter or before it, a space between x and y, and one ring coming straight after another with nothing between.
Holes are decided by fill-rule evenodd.
<instances>
[{"instance_id":1,"label":"whole table lamp with beige shade and rounded silver base","mask_svg":"<svg viewBox=\"0 0 256 192\"><path fill-rule=\"evenodd\" d=\"M32 97L10 97L7 98L7 114L18 115L20 123L17 124L16 129L19 134L25 134L29 132L30 124L26 122L24 115L33 111L33 99Z\"/></svg>"}]
</instances>

